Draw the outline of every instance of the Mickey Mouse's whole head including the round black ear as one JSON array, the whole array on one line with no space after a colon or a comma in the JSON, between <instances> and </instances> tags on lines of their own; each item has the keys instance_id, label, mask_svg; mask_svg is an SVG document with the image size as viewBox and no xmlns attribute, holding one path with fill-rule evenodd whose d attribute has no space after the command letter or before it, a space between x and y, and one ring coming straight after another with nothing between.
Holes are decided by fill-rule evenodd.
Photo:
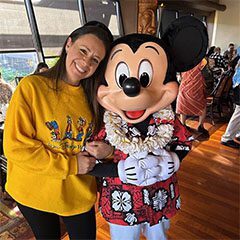
<instances>
[{"instance_id":1,"label":"Mickey Mouse's whole head including the round black ear","mask_svg":"<svg viewBox=\"0 0 240 240\"><path fill-rule=\"evenodd\" d=\"M139 123L176 99L175 72L187 71L203 59L208 35L200 20L184 16L169 25L162 39L130 34L113 44L107 86L98 88L98 101L128 123Z\"/></svg>"}]
</instances>

